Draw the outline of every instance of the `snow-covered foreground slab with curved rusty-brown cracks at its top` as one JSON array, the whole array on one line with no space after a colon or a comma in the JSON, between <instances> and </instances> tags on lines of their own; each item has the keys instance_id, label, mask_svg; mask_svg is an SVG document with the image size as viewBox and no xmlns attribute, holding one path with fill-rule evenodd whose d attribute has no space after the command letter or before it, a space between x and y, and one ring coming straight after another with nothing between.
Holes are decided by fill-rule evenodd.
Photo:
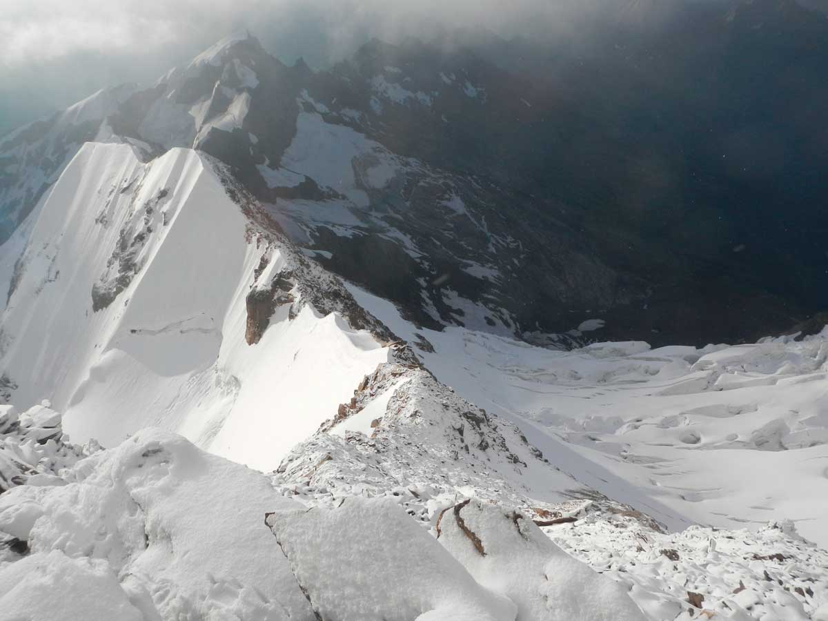
<instances>
[{"instance_id":1,"label":"snow-covered foreground slab with curved rusty-brown cracks at its top","mask_svg":"<svg viewBox=\"0 0 828 621\"><path fill-rule=\"evenodd\" d=\"M525 621L640 621L619 583L561 551L531 519L466 500L440 513L440 543L481 585L517 604Z\"/></svg>"}]
</instances>

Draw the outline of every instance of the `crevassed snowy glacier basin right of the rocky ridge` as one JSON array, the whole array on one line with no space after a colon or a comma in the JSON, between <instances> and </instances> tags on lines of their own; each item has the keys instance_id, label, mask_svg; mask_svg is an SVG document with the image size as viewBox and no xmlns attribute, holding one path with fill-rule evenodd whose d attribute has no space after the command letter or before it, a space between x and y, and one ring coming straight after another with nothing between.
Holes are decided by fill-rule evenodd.
<instances>
[{"instance_id":1,"label":"crevassed snowy glacier basin right of the rocky ridge","mask_svg":"<svg viewBox=\"0 0 828 621\"><path fill-rule=\"evenodd\" d=\"M416 330L354 297L457 392L513 421L582 484L671 528L790 519L828 544L828 334L741 345L551 351L472 330Z\"/></svg>"}]
</instances>

